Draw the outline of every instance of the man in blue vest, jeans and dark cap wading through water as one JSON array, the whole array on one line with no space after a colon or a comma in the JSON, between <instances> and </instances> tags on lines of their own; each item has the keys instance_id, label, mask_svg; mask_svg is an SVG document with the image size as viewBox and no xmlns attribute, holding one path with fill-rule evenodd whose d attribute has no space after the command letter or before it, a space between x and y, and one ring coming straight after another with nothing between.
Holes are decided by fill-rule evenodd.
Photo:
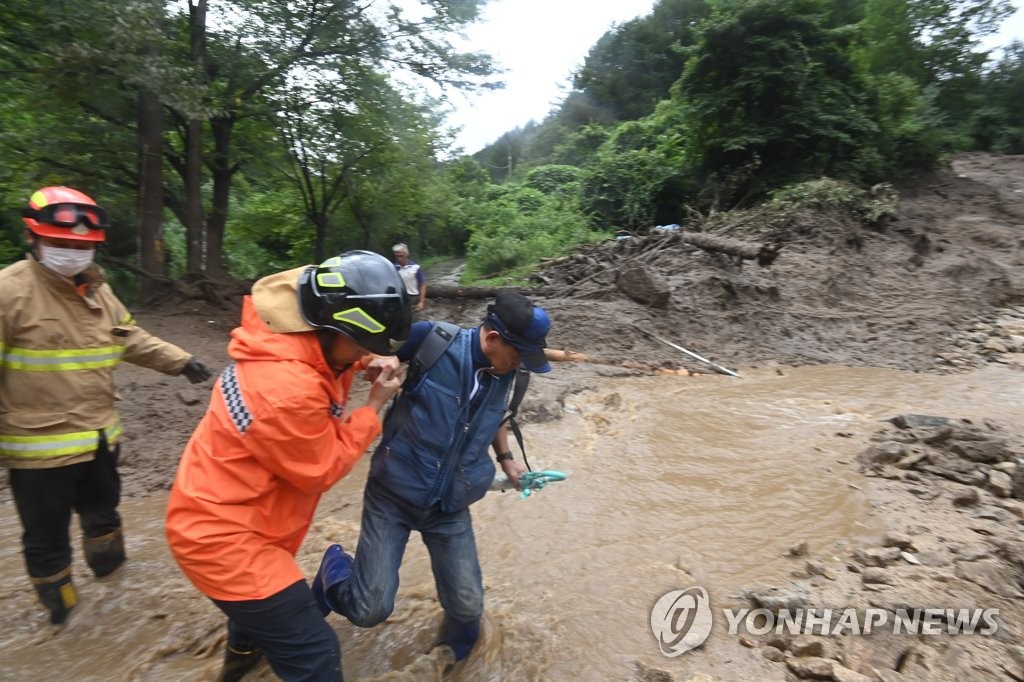
<instances>
[{"instance_id":1,"label":"man in blue vest, jeans and dark cap wading through water","mask_svg":"<svg viewBox=\"0 0 1024 682\"><path fill-rule=\"evenodd\" d=\"M413 325L397 360L413 359L433 328ZM513 484L525 472L509 450L503 418L515 370L551 370L544 353L550 328L543 308L503 292L479 327L459 330L440 357L403 388L371 460L355 559L332 545L313 581L325 615L333 610L364 628L390 615L410 531L419 530L444 609L444 643L456 660L469 655L483 614L469 506L495 477L488 446Z\"/></svg>"}]
</instances>

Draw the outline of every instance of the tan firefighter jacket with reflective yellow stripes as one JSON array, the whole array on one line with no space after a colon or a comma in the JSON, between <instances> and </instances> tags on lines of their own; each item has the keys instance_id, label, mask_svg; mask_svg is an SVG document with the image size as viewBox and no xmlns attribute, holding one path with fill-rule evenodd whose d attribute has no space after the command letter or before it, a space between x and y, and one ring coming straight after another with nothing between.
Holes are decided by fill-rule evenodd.
<instances>
[{"instance_id":1,"label":"tan firefighter jacket with reflective yellow stripes","mask_svg":"<svg viewBox=\"0 0 1024 682\"><path fill-rule=\"evenodd\" d=\"M31 255L0 270L0 466L86 462L121 434L114 370L181 373L189 353L152 336L90 265L85 285Z\"/></svg>"}]
</instances>

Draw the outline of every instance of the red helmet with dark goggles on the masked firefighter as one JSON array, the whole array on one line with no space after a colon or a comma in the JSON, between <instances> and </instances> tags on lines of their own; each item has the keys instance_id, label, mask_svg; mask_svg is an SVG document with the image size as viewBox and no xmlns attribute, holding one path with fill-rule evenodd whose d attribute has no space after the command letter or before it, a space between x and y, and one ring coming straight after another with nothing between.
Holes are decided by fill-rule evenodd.
<instances>
[{"instance_id":1,"label":"red helmet with dark goggles on the masked firefighter","mask_svg":"<svg viewBox=\"0 0 1024 682\"><path fill-rule=\"evenodd\" d=\"M87 195L71 187L43 187L22 209L22 218L33 235L61 240L102 242L110 227L106 211Z\"/></svg>"}]
</instances>

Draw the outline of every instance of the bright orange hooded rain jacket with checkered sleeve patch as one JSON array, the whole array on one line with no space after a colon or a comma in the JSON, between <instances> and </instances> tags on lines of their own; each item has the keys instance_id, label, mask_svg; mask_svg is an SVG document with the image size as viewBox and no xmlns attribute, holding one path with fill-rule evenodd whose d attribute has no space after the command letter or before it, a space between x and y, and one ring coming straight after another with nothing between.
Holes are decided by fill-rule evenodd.
<instances>
[{"instance_id":1,"label":"bright orange hooded rain jacket with checkered sleeve patch","mask_svg":"<svg viewBox=\"0 0 1024 682\"><path fill-rule=\"evenodd\" d=\"M340 377L315 332L274 333L246 297L231 332L234 360L178 466L167 539L201 592L263 599L305 577L295 553L319 497L381 431L373 408L343 419L356 364Z\"/></svg>"}]
</instances>

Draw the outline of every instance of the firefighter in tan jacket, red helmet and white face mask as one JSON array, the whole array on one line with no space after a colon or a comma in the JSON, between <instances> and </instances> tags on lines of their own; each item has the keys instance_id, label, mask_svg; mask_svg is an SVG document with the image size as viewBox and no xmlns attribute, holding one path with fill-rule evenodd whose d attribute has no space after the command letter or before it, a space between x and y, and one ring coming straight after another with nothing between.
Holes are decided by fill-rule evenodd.
<instances>
[{"instance_id":1,"label":"firefighter in tan jacket, red helmet and white face mask","mask_svg":"<svg viewBox=\"0 0 1024 682\"><path fill-rule=\"evenodd\" d=\"M0 466L10 469L29 577L59 624L78 601L73 511L97 577L125 560L115 368L127 360L193 383L210 372L137 327L111 290L93 263L109 223L92 199L43 187L22 216L30 253L0 270Z\"/></svg>"}]
</instances>

